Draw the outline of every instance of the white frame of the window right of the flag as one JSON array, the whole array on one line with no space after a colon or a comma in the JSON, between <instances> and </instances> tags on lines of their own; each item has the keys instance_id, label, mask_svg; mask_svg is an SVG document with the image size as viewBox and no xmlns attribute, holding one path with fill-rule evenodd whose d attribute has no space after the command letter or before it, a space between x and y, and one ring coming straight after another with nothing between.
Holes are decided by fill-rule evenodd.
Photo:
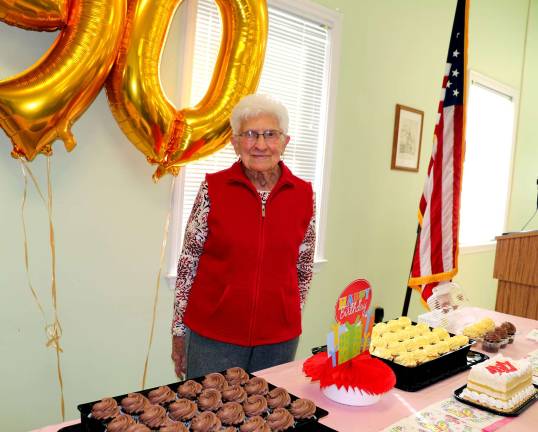
<instances>
[{"instance_id":1,"label":"white frame of the window right of the flag","mask_svg":"<svg viewBox=\"0 0 538 432\"><path fill-rule=\"evenodd\" d=\"M506 84L503 84L491 77L488 77L486 75L483 75L477 71L469 70L469 73L467 75L469 77L468 82L468 88L467 88L467 94L470 94L470 88L473 83L476 83L479 86L483 86L489 90L492 90L494 92L498 92L504 96L512 98L512 102L514 104L514 128L512 131L512 148L510 151L510 162L508 166L508 188L507 188L507 196L506 196L506 208L504 212L504 224L503 224L503 231L506 231L508 226L508 217L510 214L510 198L512 193L512 182L513 182L513 171L514 171L514 155L515 155L515 149L516 149L516 143L517 143L517 131L518 131L518 112L519 112L519 92L514 89L513 87L510 87ZM463 172L465 175L465 162L463 165ZM460 221L461 224L461 221ZM499 233L501 234L501 233ZM468 255L468 254L474 254L474 253L482 253L482 252L490 252L495 250L495 246L497 244L496 240L492 240L489 242L482 242L477 244L469 244L469 245L460 245L459 251L462 255Z\"/></svg>"}]
</instances>

